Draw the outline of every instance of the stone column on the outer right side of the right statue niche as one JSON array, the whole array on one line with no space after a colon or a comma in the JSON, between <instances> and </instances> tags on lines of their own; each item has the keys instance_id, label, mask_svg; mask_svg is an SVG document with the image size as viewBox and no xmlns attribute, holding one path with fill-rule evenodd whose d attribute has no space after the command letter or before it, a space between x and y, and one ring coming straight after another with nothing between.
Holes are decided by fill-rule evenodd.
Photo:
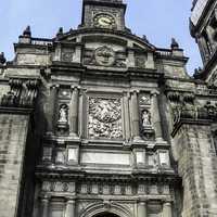
<instances>
[{"instance_id":1,"label":"stone column on the outer right side of the right statue niche","mask_svg":"<svg viewBox=\"0 0 217 217\"><path fill-rule=\"evenodd\" d=\"M162 132L162 122L161 122L157 95L158 95L157 92L152 93L152 106L153 106L152 119L153 119L153 127L155 129L156 142L162 142L163 132Z\"/></svg>"}]
</instances>

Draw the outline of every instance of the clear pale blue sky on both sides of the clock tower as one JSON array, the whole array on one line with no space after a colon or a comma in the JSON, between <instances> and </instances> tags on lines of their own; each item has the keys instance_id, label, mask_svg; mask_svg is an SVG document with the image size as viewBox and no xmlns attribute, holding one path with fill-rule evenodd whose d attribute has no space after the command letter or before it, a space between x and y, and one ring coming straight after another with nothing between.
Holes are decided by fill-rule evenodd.
<instances>
[{"instance_id":1,"label":"clear pale blue sky on both sides of the clock tower","mask_svg":"<svg viewBox=\"0 0 217 217\"><path fill-rule=\"evenodd\" d=\"M1 0L0 52L13 60L13 43L27 25L33 37L52 38L80 24L82 0ZM125 0L126 25L138 36L145 35L155 47L169 48L171 37L190 58L188 73L202 65L195 40L189 33L192 0Z\"/></svg>"}]
</instances>

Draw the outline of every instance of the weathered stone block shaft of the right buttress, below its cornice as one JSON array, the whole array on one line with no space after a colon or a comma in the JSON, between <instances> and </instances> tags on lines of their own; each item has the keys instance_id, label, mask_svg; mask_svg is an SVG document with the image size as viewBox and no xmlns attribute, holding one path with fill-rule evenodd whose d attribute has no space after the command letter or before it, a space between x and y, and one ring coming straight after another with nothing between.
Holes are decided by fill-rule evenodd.
<instances>
[{"instance_id":1,"label":"weathered stone block shaft of the right buttress, below its cornice","mask_svg":"<svg viewBox=\"0 0 217 217\"><path fill-rule=\"evenodd\" d=\"M212 216L217 210L217 158L210 127L183 124L176 139L179 174L184 189L182 215Z\"/></svg>"}]
</instances>

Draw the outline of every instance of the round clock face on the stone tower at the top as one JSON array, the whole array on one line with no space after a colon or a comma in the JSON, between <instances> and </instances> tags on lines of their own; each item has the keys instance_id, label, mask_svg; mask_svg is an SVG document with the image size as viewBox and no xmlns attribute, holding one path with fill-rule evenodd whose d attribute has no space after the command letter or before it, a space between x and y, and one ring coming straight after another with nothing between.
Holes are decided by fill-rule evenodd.
<instances>
[{"instance_id":1,"label":"round clock face on the stone tower at the top","mask_svg":"<svg viewBox=\"0 0 217 217\"><path fill-rule=\"evenodd\" d=\"M93 18L93 23L95 27L100 28L114 28L115 27L115 18L108 14L98 14Z\"/></svg>"}]
</instances>

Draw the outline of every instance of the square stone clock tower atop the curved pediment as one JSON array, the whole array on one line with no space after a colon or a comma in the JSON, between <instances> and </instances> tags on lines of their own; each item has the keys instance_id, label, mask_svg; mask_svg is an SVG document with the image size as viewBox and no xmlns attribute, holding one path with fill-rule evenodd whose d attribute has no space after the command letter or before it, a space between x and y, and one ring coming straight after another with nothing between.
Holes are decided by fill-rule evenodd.
<instances>
[{"instance_id":1,"label":"square stone clock tower atop the curved pediment","mask_svg":"<svg viewBox=\"0 0 217 217\"><path fill-rule=\"evenodd\" d=\"M125 30L125 12L123 0L84 0L80 28Z\"/></svg>"}]
</instances>

